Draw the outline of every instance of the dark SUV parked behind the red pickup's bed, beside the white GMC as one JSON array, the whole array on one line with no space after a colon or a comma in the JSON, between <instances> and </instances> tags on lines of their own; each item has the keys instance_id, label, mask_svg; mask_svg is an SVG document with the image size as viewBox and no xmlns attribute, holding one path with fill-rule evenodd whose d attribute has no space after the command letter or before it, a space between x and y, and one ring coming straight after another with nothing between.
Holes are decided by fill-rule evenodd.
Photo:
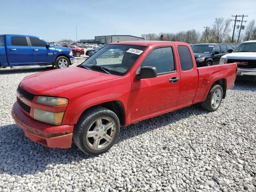
<instances>
[{"instance_id":1,"label":"dark SUV parked behind the red pickup's bed, beside the white GMC","mask_svg":"<svg viewBox=\"0 0 256 192\"><path fill-rule=\"evenodd\" d=\"M223 55L233 52L232 46L226 44L202 43L190 46L198 67L217 65Z\"/></svg>"}]
</instances>

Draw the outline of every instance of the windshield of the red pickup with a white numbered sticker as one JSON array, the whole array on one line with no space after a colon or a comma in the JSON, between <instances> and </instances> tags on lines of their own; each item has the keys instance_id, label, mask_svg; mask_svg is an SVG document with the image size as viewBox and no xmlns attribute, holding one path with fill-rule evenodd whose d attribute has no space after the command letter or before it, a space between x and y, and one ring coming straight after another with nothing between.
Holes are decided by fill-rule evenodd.
<instances>
[{"instance_id":1,"label":"windshield of the red pickup with a white numbered sticker","mask_svg":"<svg viewBox=\"0 0 256 192\"><path fill-rule=\"evenodd\" d=\"M81 67L104 73L107 70L110 74L122 76L130 70L145 49L144 46L107 45L83 62Z\"/></svg>"}]
</instances>

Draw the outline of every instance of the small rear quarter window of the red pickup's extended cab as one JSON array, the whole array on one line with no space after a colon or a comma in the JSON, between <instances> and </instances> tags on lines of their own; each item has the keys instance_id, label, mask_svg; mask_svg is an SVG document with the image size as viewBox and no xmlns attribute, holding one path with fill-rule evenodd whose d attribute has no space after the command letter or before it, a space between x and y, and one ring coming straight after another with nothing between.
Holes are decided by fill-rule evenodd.
<instances>
[{"instance_id":1,"label":"small rear quarter window of the red pickup's extended cab","mask_svg":"<svg viewBox=\"0 0 256 192\"><path fill-rule=\"evenodd\" d=\"M190 54L190 50L187 46L178 46L178 53L180 57L180 66L182 71L187 71L193 68L193 62Z\"/></svg>"}]
</instances>

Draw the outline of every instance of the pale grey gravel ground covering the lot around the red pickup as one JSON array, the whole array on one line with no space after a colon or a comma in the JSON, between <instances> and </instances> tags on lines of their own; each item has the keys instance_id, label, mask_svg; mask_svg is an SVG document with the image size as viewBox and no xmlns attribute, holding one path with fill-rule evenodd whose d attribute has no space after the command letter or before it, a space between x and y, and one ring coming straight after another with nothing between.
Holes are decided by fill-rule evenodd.
<instances>
[{"instance_id":1,"label":"pale grey gravel ground covering the lot around the red pickup","mask_svg":"<svg viewBox=\"0 0 256 192\"><path fill-rule=\"evenodd\" d=\"M88 156L31 142L12 120L18 83L45 70L0 70L0 191L256 191L255 82L236 82L216 112L194 105L122 128Z\"/></svg>"}]
</instances>

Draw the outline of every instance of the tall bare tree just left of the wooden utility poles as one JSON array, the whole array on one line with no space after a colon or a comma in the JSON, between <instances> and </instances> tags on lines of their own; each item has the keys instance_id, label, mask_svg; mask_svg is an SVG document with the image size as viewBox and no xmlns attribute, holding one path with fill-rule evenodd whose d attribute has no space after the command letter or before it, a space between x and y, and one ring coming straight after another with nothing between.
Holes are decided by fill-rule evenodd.
<instances>
[{"instance_id":1,"label":"tall bare tree just left of the wooden utility poles","mask_svg":"<svg viewBox=\"0 0 256 192\"><path fill-rule=\"evenodd\" d=\"M221 43L230 32L230 19L224 21L223 17L215 18L213 32L217 43Z\"/></svg>"}]
</instances>

